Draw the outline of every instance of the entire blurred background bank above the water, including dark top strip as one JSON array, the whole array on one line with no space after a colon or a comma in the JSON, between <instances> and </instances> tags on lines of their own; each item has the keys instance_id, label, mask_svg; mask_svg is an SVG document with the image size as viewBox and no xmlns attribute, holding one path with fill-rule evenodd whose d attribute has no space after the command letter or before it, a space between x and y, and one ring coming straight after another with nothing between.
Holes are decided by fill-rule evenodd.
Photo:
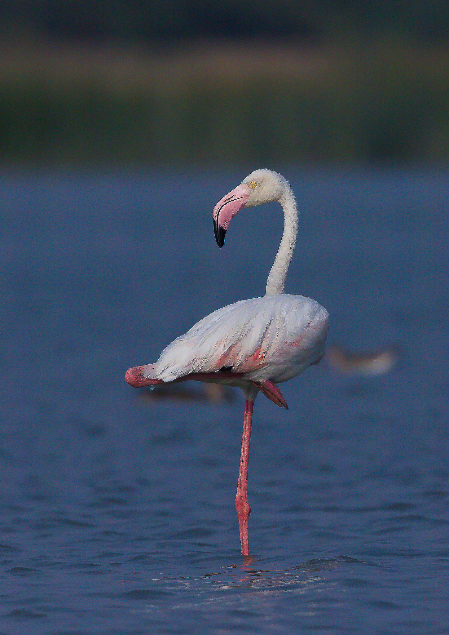
<instances>
[{"instance_id":1,"label":"entire blurred background bank above the water, including dark top strip","mask_svg":"<svg viewBox=\"0 0 449 635\"><path fill-rule=\"evenodd\" d=\"M11 0L0 163L442 163L449 5Z\"/></svg>"}]
</instances>

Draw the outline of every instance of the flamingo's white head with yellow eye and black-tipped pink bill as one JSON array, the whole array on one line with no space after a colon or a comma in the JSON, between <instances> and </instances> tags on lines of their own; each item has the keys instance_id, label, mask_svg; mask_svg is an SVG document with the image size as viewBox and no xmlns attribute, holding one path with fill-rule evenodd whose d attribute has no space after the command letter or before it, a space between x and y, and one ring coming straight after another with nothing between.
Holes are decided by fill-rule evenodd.
<instances>
[{"instance_id":1,"label":"flamingo's white head with yellow eye and black-tipped pink bill","mask_svg":"<svg viewBox=\"0 0 449 635\"><path fill-rule=\"evenodd\" d=\"M231 218L244 207L255 207L279 201L285 190L285 178L273 170L255 170L240 185L218 201L212 212L215 239L219 247L225 244L225 234Z\"/></svg>"}]
</instances>

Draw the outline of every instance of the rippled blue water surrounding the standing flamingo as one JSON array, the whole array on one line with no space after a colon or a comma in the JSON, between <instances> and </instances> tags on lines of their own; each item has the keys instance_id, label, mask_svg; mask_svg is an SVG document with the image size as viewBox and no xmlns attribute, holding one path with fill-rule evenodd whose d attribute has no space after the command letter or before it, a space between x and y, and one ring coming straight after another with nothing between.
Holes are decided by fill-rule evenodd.
<instances>
[{"instance_id":1,"label":"rippled blue water surrounding the standing flamingo","mask_svg":"<svg viewBox=\"0 0 449 635\"><path fill-rule=\"evenodd\" d=\"M241 396L124 382L263 295L277 206L242 211L223 250L212 229L250 169L1 175L2 634L449 632L447 173L283 170L287 292L329 310L329 344L404 354L377 378L313 367L283 384L288 412L259 396L252 558Z\"/></svg>"}]
</instances>

